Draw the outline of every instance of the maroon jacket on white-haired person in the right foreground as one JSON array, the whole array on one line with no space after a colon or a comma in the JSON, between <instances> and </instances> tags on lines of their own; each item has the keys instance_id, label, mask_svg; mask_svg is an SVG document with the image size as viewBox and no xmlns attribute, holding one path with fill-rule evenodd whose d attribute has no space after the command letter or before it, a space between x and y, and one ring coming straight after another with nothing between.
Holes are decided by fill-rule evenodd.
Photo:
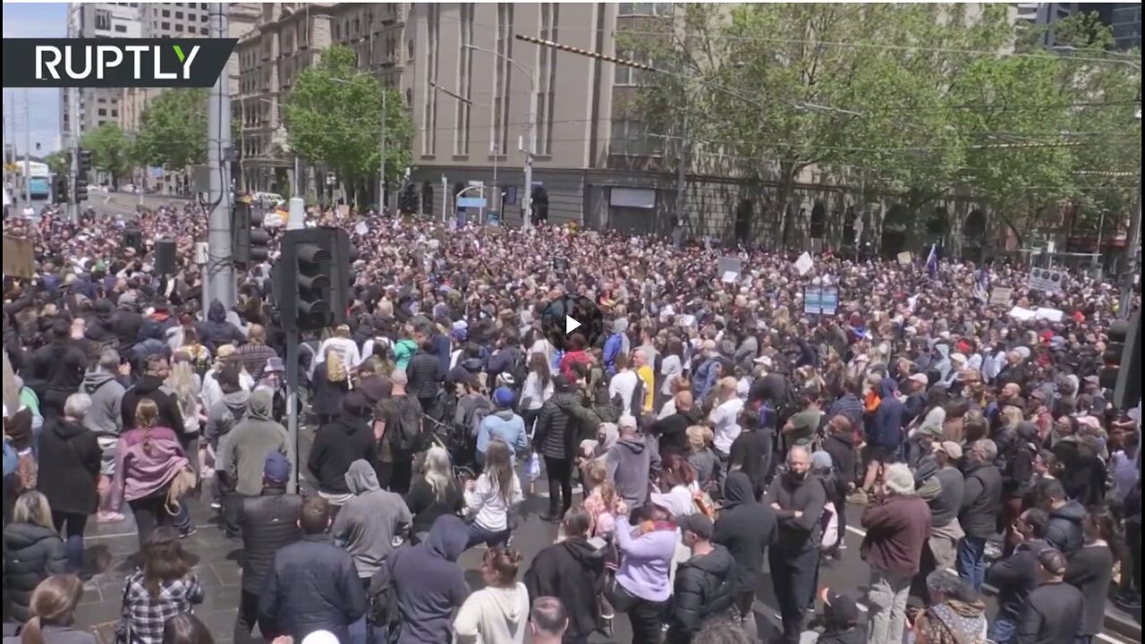
<instances>
[{"instance_id":1,"label":"maroon jacket on white-haired person in the right foreground","mask_svg":"<svg viewBox=\"0 0 1145 644\"><path fill-rule=\"evenodd\" d=\"M859 552L871 568L913 576L930 540L930 506L917 496L891 496L867 505L861 519L867 536Z\"/></svg>"}]
</instances>

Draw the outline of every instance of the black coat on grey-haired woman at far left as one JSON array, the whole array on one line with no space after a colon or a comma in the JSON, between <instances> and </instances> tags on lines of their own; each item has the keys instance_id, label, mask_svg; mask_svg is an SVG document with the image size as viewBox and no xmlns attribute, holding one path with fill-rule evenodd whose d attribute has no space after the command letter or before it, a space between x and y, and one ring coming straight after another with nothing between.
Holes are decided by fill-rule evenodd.
<instances>
[{"instance_id":1,"label":"black coat on grey-haired woman at far left","mask_svg":"<svg viewBox=\"0 0 1145 644\"><path fill-rule=\"evenodd\" d=\"M95 432L62 417L48 421L40 434L37 488L55 512L90 515L100 504L95 480L102 453Z\"/></svg>"}]
</instances>

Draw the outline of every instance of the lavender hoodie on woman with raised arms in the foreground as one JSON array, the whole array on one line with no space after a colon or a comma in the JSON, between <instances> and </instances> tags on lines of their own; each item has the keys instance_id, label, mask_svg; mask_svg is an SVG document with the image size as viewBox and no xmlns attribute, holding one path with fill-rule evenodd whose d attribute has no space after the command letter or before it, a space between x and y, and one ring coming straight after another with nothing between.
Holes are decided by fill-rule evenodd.
<instances>
[{"instance_id":1,"label":"lavender hoodie on woman with raised arms in the foreground","mask_svg":"<svg viewBox=\"0 0 1145 644\"><path fill-rule=\"evenodd\" d=\"M634 535L626 517L616 518L616 545L621 550L621 568L616 571L616 583L624 590L649 602L665 602L672 595L669 574L676 541L679 533L673 529L656 529Z\"/></svg>"}]
</instances>

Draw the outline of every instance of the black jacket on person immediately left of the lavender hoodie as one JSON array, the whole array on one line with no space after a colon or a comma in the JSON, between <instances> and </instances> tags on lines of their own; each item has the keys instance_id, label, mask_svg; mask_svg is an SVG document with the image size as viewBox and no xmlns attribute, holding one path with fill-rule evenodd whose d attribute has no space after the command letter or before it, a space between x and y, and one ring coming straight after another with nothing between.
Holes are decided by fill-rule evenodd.
<instances>
[{"instance_id":1,"label":"black jacket on person immediately left of the lavender hoodie","mask_svg":"<svg viewBox=\"0 0 1145 644\"><path fill-rule=\"evenodd\" d=\"M586 637L600 621L605 558L589 542L568 539L537 552L524 573L529 597L556 597L568 612L568 637Z\"/></svg>"}]
</instances>

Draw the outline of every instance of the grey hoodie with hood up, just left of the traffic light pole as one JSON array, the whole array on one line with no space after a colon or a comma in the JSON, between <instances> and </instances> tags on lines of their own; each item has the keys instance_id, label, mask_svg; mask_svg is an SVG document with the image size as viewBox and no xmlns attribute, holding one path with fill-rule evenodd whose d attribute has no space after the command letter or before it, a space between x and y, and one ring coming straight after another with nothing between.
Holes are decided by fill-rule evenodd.
<instances>
[{"instance_id":1,"label":"grey hoodie with hood up, just left of the traffic light pole","mask_svg":"<svg viewBox=\"0 0 1145 644\"><path fill-rule=\"evenodd\" d=\"M227 476L238 494L262 494L267 454L278 451L287 460L291 457L286 429L270 417L270 392L255 390L250 394L246 416L219 443L219 461L226 464Z\"/></svg>"}]
</instances>

